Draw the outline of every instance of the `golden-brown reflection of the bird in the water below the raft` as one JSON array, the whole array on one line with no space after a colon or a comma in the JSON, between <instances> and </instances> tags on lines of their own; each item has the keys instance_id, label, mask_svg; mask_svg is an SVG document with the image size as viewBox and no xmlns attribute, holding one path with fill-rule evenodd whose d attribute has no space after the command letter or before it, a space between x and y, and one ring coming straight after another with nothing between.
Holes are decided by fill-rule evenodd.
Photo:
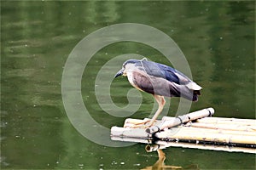
<instances>
[{"instance_id":1,"label":"golden-brown reflection of the bird in the water below the raft","mask_svg":"<svg viewBox=\"0 0 256 170\"><path fill-rule=\"evenodd\" d=\"M196 169L198 170L198 166L193 164L189 165L187 167L180 167L180 166L173 166L173 165L166 165L165 160L166 160L166 154L163 152L163 150L156 150L158 153L158 160L154 163L153 166L150 167L145 167L142 170L149 170L149 169L159 169L159 170L171 170L171 169Z\"/></svg>"}]
</instances>

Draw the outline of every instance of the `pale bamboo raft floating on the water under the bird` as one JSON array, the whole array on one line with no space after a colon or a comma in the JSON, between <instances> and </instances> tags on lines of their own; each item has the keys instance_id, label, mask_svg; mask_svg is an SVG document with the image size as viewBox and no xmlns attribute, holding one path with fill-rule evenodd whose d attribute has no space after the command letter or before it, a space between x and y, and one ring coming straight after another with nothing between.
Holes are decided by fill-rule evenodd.
<instances>
[{"instance_id":1,"label":"pale bamboo raft floating on the water under the bird","mask_svg":"<svg viewBox=\"0 0 256 170\"><path fill-rule=\"evenodd\" d=\"M169 146L256 153L256 120L212 117L212 108L177 117L164 116L152 127L135 127L150 119L125 120L112 127L111 139L148 144L147 151Z\"/></svg>"}]
</instances>

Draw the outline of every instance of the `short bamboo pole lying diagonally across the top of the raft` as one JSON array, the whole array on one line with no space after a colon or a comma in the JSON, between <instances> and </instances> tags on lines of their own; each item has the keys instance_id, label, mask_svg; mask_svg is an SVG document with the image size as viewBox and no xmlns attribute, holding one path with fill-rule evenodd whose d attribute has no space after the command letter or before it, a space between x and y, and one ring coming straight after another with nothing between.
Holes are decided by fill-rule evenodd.
<instances>
[{"instance_id":1,"label":"short bamboo pole lying diagonally across the top of the raft","mask_svg":"<svg viewBox=\"0 0 256 170\"><path fill-rule=\"evenodd\" d=\"M203 109L201 111L195 111L183 116L177 116L175 117L175 119L172 119L172 120L162 120L164 121L162 125L149 127L146 129L146 132L153 134L156 132L160 132L160 130L163 130L164 128L175 127L185 122L194 121L196 119L206 117L206 116L212 116L213 114L214 114L214 110L212 108Z\"/></svg>"}]
</instances>

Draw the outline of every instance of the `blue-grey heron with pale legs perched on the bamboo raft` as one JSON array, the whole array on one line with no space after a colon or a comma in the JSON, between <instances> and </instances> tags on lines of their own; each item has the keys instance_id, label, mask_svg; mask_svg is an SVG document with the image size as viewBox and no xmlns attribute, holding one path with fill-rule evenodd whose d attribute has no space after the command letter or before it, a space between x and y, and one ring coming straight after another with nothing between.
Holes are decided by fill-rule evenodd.
<instances>
[{"instance_id":1,"label":"blue-grey heron with pale legs perched on the bamboo raft","mask_svg":"<svg viewBox=\"0 0 256 170\"><path fill-rule=\"evenodd\" d=\"M201 86L193 82L182 72L168 65L163 65L143 59L128 59L114 78L124 76L134 88L148 94L153 94L158 103L158 109L150 121L143 122L144 127L151 127L166 104L165 97L183 97L197 101L201 95ZM149 122L149 123L148 123ZM148 123L147 125L145 125ZM140 127L137 123L136 127Z\"/></svg>"}]
</instances>

